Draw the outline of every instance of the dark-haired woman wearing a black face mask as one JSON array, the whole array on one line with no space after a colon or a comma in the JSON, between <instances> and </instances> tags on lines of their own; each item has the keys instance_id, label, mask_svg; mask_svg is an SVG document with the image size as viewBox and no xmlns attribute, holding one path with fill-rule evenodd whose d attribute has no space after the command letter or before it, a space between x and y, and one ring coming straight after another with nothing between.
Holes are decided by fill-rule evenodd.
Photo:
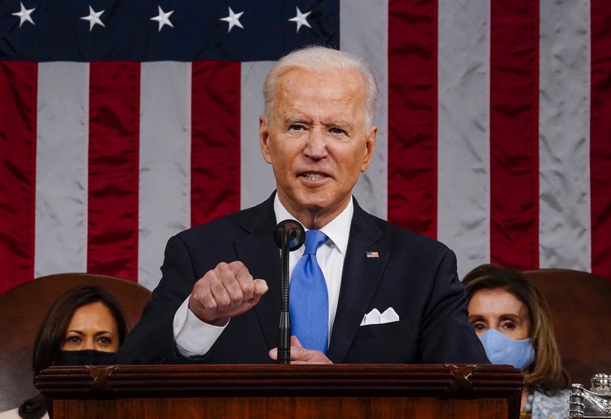
<instances>
[{"instance_id":1,"label":"dark-haired woman wearing a black face mask","mask_svg":"<svg viewBox=\"0 0 611 419\"><path fill-rule=\"evenodd\" d=\"M62 294L45 315L34 341L34 375L52 365L106 364L129 332L125 313L113 294L85 285ZM48 417L41 395L0 418Z\"/></svg>"}]
</instances>

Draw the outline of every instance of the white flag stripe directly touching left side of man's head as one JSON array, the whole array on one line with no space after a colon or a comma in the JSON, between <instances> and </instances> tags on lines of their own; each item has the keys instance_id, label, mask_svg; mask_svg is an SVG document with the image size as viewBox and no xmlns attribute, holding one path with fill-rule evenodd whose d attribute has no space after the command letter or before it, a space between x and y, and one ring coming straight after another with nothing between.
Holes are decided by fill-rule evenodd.
<instances>
[{"instance_id":1,"label":"white flag stripe directly touching left side of man's head","mask_svg":"<svg viewBox=\"0 0 611 419\"><path fill-rule=\"evenodd\" d=\"M264 111L263 82L273 62L241 64L240 104L240 206L260 204L276 189L276 180L261 155L259 115Z\"/></svg>"}]
</instances>

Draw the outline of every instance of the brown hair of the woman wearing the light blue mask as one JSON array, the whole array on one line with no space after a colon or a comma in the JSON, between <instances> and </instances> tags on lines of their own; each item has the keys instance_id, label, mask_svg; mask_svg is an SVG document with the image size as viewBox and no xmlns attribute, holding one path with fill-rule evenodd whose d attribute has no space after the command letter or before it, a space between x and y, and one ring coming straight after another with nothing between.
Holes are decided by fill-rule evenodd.
<instances>
[{"instance_id":1,"label":"brown hair of the woman wearing the light blue mask","mask_svg":"<svg viewBox=\"0 0 611 419\"><path fill-rule=\"evenodd\" d=\"M517 269L483 264L470 271L463 278L468 301L480 290L500 288L519 299L528 310L531 323L531 343L535 348L535 361L524 374L528 385L552 391L567 388L568 373L563 369L554 336L552 314L545 297L526 275Z\"/></svg>"}]
</instances>

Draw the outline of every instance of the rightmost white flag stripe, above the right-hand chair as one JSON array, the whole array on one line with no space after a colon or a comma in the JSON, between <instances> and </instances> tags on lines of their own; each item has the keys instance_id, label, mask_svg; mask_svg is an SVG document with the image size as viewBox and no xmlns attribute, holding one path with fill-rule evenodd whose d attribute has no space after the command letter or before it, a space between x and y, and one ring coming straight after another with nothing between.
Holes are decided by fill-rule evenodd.
<instances>
[{"instance_id":1,"label":"rightmost white flag stripe, above the right-hand chair","mask_svg":"<svg viewBox=\"0 0 611 419\"><path fill-rule=\"evenodd\" d=\"M540 267L589 271L590 2L542 1L540 16Z\"/></svg>"}]
</instances>

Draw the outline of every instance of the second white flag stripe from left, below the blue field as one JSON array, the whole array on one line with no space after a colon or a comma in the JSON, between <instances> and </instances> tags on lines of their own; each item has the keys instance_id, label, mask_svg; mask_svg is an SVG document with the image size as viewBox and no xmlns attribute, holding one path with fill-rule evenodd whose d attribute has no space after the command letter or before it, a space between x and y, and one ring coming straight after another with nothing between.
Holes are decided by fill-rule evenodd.
<instances>
[{"instance_id":1,"label":"second white flag stripe from left, below the blue field","mask_svg":"<svg viewBox=\"0 0 611 419\"><path fill-rule=\"evenodd\" d=\"M191 64L141 64L138 282L153 289L165 243L190 227Z\"/></svg>"}]
</instances>

